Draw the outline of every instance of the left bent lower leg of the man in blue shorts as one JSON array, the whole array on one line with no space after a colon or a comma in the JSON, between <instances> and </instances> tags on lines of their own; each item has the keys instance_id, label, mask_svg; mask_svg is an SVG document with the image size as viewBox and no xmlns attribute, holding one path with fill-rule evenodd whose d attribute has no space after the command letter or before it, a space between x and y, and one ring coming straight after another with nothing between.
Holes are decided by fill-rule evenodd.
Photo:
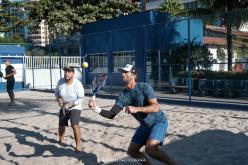
<instances>
[{"instance_id":1,"label":"left bent lower leg of the man in blue shorts","mask_svg":"<svg viewBox=\"0 0 248 165\"><path fill-rule=\"evenodd\" d=\"M141 147L142 145L131 142L128 147L127 154L139 160L139 162L142 164L145 164L145 165L151 164L148 158L145 156L145 154L139 151Z\"/></svg>"}]
</instances>

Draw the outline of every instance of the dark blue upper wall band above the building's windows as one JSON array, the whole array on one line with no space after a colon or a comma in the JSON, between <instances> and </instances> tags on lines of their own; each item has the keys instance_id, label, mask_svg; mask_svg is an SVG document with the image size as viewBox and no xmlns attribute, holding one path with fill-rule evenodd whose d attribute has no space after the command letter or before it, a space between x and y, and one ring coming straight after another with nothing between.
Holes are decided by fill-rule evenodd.
<instances>
[{"instance_id":1,"label":"dark blue upper wall band above the building's windows","mask_svg":"<svg viewBox=\"0 0 248 165\"><path fill-rule=\"evenodd\" d=\"M152 47L151 40L158 35L154 24L166 23L167 17L168 14L148 11L86 24L81 31L81 55L142 49L145 39Z\"/></svg>"}]
</instances>

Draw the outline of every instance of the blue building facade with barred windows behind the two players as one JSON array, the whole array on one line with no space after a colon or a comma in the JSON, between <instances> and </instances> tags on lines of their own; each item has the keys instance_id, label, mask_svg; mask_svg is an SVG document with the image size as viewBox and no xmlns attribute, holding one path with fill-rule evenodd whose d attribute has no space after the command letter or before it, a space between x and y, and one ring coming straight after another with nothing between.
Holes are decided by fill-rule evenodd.
<instances>
[{"instance_id":1,"label":"blue building facade with barred windows behind the two players","mask_svg":"<svg viewBox=\"0 0 248 165\"><path fill-rule=\"evenodd\" d=\"M111 79L109 85L118 86L121 84L118 68L127 63L135 65L139 81L168 80L167 57L174 45L188 41L187 27L187 20L169 22L168 14L155 11L84 25L80 53L89 62L86 82L106 73ZM201 43L202 22L192 20L190 27L190 40ZM162 69L158 70L158 66Z\"/></svg>"}]
</instances>

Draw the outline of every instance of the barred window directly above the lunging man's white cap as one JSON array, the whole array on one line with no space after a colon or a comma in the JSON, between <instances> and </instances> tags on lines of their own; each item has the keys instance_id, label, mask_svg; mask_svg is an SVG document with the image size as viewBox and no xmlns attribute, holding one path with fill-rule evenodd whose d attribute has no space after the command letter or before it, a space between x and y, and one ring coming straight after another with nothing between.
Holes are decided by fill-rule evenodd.
<instances>
[{"instance_id":1,"label":"barred window directly above the lunging man's white cap","mask_svg":"<svg viewBox=\"0 0 248 165\"><path fill-rule=\"evenodd\" d=\"M135 65L134 51L122 51L122 52L113 52L113 66L114 72L119 72L118 69L123 67L126 64Z\"/></svg>"}]
</instances>

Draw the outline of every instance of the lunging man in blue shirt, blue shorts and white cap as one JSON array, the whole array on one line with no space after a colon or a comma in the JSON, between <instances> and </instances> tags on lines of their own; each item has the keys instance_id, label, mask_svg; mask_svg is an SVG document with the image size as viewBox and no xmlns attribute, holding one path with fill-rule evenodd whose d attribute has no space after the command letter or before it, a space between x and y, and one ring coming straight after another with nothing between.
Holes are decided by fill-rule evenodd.
<instances>
[{"instance_id":1,"label":"lunging man in blue shirt, blue shorts and white cap","mask_svg":"<svg viewBox=\"0 0 248 165\"><path fill-rule=\"evenodd\" d=\"M110 111L101 109L95 100L90 100L88 105L101 116L113 119L121 110L132 114L140 122L127 153L143 164L150 164L140 148L145 145L145 152L152 158L170 165L176 163L162 150L162 145L167 131L167 119L160 110L154 90L150 84L136 82L137 73L133 65L127 64L119 69L126 88L118 96L115 105Z\"/></svg>"}]
</instances>

